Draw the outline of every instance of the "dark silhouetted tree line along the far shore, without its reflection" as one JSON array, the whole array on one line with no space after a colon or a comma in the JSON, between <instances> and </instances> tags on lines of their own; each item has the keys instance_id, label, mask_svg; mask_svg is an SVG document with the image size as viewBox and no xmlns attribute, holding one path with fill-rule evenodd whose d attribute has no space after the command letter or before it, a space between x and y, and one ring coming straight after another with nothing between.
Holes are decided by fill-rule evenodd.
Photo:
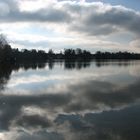
<instances>
[{"instance_id":1,"label":"dark silhouetted tree line along the far shore, without its reflection","mask_svg":"<svg viewBox=\"0 0 140 140\"><path fill-rule=\"evenodd\" d=\"M54 53L52 49L48 52L44 50L27 50L12 48L6 41L5 37L0 35L0 63L22 63L22 62L46 62L53 59L65 60L91 60L91 59L140 59L139 53L130 52L96 52L91 53L87 50L64 49L59 53Z\"/></svg>"}]
</instances>

